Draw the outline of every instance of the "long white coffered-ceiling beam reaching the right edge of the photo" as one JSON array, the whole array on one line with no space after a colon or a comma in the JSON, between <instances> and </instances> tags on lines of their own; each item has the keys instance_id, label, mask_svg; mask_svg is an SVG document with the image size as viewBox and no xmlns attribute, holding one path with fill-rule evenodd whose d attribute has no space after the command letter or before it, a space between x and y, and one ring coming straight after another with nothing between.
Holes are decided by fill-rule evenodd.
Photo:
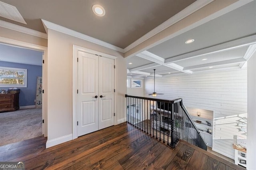
<instances>
[{"instance_id":1,"label":"long white coffered-ceiling beam reaching the right edge of the photo","mask_svg":"<svg viewBox=\"0 0 256 170\"><path fill-rule=\"evenodd\" d=\"M199 49L197 51L192 51L190 53L185 53L182 55L177 55L175 57L170 57L168 59L165 59L165 63L174 63L176 61L194 58L194 57L200 57L202 55L208 55L213 53L218 53L222 51L228 51L231 49L236 49L240 47L245 47L248 45L252 45L256 43L256 35L240 38L237 40L232 40L230 42L221 43L218 45L214 45L212 47L207 47L204 49Z\"/></svg>"}]
</instances>

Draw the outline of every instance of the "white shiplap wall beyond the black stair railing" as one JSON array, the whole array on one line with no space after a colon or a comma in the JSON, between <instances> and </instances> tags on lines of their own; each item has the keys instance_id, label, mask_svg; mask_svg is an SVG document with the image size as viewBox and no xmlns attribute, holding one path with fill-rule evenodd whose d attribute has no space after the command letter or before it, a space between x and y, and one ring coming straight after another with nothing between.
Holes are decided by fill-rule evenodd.
<instances>
[{"instance_id":1,"label":"white shiplap wall beyond the black stair railing","mask_svg":"<svg viewBox=\"0 0 256 170\"><path fill-rule=\"evenodd\" d=\"M156 77L156 92L161 99L182 98L186 107L214 111L214 120L247 113L246 69L216 73L181 74ZM154 79L144 79L144 95L154 90ZM213 150L234 159L234 135L246 137L237 123L226 121L214 126ZM215 121L214 121L215 123Z\"/></svg>"}]
</instances>

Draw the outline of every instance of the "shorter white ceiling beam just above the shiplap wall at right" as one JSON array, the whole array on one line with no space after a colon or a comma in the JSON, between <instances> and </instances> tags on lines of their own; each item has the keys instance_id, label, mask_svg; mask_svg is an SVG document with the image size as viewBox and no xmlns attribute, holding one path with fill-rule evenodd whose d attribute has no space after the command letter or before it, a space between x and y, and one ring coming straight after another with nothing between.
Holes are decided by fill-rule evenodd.
<instances>
[{"instance_id":1,"label":"shorter white ceiling beam just above the shiplap wall at right","mask_svg":"<svg viewBox=\"0 0 256 170\"><path fill-rule=\"evenodd\" d=\"M217 66L217 65L226 65L226 64L232 64L232 63L241 63L245 62L246 60L244 58L237 58L237 59L230 59L226 61L218 61L214 63L206 63L201 65L193 65L190 67L184 67L184 70L191 70L191 69L199 69L204 67L211 67L211 66Z\"/></svg>"}]
</instances>

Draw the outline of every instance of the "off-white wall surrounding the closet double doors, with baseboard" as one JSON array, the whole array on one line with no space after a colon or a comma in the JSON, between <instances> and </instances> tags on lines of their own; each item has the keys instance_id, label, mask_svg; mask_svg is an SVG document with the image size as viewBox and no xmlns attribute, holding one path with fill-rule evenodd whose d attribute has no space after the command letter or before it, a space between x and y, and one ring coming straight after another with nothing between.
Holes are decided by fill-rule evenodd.
<instances>
[{"instance_id":1,"label":"off-white wall surrounding the closet double doors, with baseboard","mask_svg":"<svg viewBox=\"0 0 256 170\"><path fill-rule=\"evenodd\" d=\"M72 45L116 59L116 124L126 121L126 62L122 53L54 30L48 30L48 140L46 147L72 139Z\"/></svg>"}]
</instances>

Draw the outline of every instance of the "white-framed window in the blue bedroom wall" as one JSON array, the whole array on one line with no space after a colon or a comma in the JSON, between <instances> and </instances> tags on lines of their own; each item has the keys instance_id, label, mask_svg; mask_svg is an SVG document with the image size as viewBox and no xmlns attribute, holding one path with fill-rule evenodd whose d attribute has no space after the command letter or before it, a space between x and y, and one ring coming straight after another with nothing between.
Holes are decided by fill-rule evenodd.
<instances>
[{"instance_id":1,"label":"white-framed window in the blue bedroom wall","mask_svg":"<svg viewBox=\"0 0 256 170\"><path fill-rule=\"evenodd\" d=\"M27 69L0 66L0 87L27 87Z\"/></svg>"}]
</instances>

